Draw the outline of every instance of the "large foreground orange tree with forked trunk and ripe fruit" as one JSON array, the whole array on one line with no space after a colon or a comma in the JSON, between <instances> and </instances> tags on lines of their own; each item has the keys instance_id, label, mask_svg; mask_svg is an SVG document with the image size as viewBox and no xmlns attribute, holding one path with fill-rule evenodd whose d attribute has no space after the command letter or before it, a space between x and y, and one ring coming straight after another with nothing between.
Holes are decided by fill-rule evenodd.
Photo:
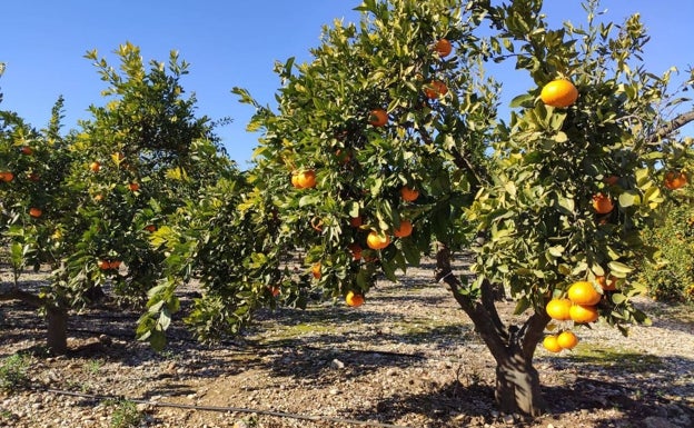
<instances>
[{"instance_id":1,"label":"large foreground orange tree with forked trunk and ripe fruit","mask_svg":"<svg viewBox=\"0 0 694 428\"><path fill-rule=\"evenodd\" d=\"M277 64L277 110L236 89L257 109L249 129L262 137L254 189L218 198L227 212L216 223L257 235L244 247L204 232L219 251L191 261L184 256L199 247L177 250L185 232L161 233L170 266L185 271L228 269L227 248L240 257L229 281L205 280L211 297L190 320L207 332L221 319L215 334L224 334L265 303L301 306L324 293L358 306L378 275L395 280L434 253L436 279L496 361L500 409L541 412L533 357L551 322L546 305L568 297L562 318L576 325L646 321L631 305L643 288L635 260L653 252L640 230L670 191L664 175L691 151L675 131L694 115L664 121L660 106L678 101L668 99L670 74L640 63L647 37L638 17L595 23L597 2L589 6L586 28L551 29L533 0L366 0L360 23L326 28L310 61ZM531 87L508 122L497 118L500 84L485 72L505 61ZM465 246L475 251L469 282L452 265ZM177 280L151 293L141 325L158 345L165 326L155 320L162 302L176 306ZM502 319L498 289L524 322ZM548 348L575 346L564 332Z\"/></svg>"}]
</instances>

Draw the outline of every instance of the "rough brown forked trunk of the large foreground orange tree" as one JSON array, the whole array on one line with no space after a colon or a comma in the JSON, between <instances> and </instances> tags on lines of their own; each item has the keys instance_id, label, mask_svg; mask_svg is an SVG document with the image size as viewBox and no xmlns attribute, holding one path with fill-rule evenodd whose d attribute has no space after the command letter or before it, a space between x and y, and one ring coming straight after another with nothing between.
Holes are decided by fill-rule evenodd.
<instances>
[{"instance_id":1,"label":"rough brown forked trunk of the large foreground orange tree","mask_svg":"<svg viewBox=\"0 0 694 428\"><path fill-rule=\"evenodd\" d=\"M499 410L531 416L545 412L547 406L533 356L549 317L535 312L520 327L505 326L496 310L494 287L484 282L479 300L464 293L460 280L453 275L450 257L448 246L438 242L436 279L447 285L496 361L495 397Z\"/></svg>"}]
</instances>

